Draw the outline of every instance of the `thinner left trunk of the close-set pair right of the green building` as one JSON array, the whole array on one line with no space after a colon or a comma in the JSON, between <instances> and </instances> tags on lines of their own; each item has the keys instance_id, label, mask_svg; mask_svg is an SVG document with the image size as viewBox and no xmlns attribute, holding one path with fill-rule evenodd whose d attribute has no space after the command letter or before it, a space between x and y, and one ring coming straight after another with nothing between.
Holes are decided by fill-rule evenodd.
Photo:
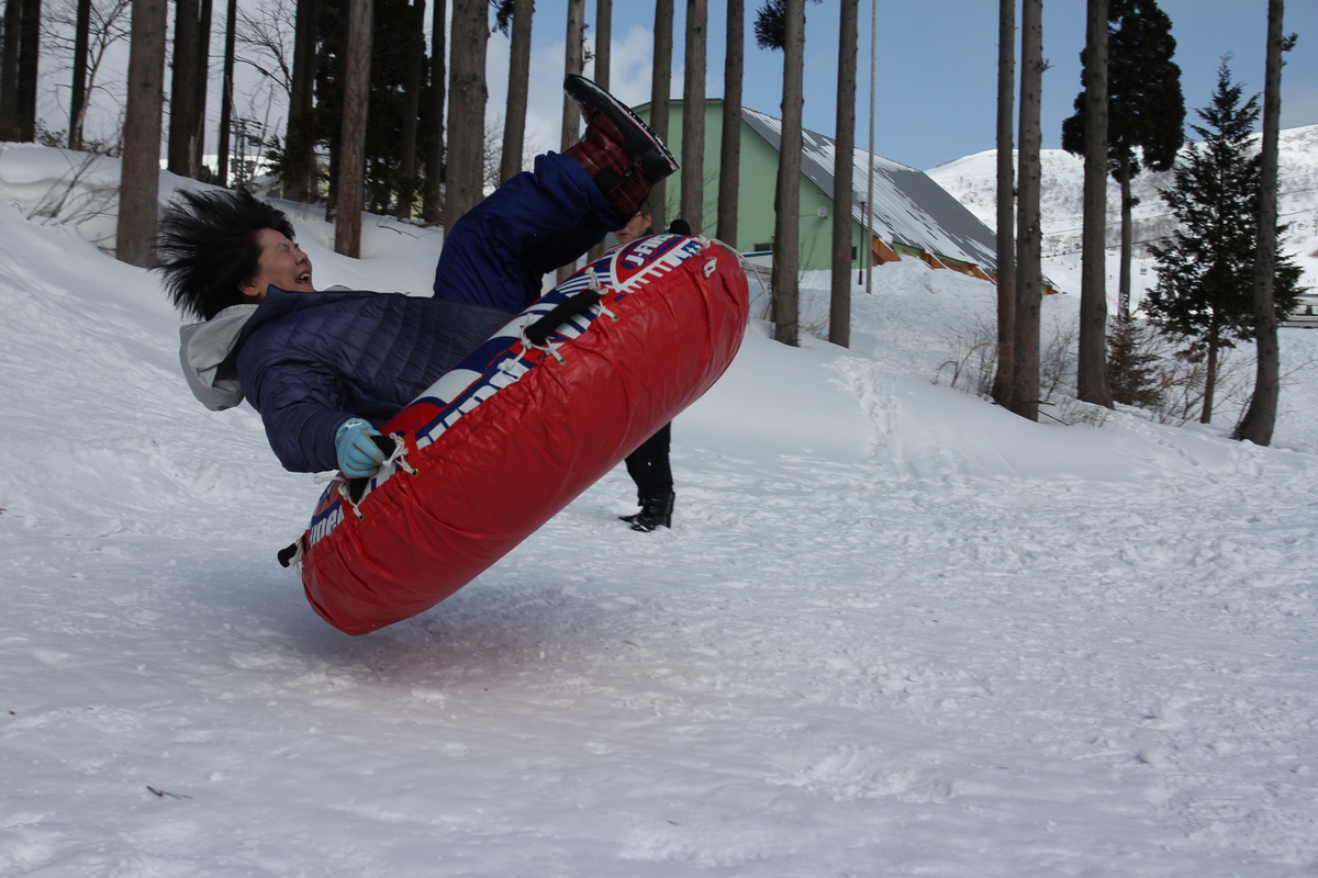
<instances>
[{"instance_id":1,"label":"thinner left trunk of the close-set pair right of the green building","mask_svg":"<svg viewBox=\"0 0 1318 878\"><path fill-rule=\"evenodd\" d=\"M998 373L992 398L1016 384L1016 0L998 3Z\"/></svg>"}]
</instances>

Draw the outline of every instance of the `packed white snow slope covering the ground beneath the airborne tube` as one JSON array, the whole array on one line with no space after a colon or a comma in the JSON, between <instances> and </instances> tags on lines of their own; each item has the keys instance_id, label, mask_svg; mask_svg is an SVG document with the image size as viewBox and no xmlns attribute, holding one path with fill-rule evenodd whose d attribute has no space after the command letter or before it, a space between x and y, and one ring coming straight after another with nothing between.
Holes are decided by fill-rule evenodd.
<instances>
[{"instance_id":1,"label":"packed white snow slope covering the ground beneath the airborne tube","mask_svg":"<svg viewBox=\"0 0 1318 878\"><path fill-rule=\"evenodd\" d=\"M0 874L1318 871L1318 332L1273 448L1032 424L933 382L992 288L886 266L850 350L747 326L671 530L619 467L351 638L274 558L319 487L191 399L112 217L34 213L67 167L0 155ZM322 284L430 287L435 232L294 222Z\"/></svg>"}]
</instances>

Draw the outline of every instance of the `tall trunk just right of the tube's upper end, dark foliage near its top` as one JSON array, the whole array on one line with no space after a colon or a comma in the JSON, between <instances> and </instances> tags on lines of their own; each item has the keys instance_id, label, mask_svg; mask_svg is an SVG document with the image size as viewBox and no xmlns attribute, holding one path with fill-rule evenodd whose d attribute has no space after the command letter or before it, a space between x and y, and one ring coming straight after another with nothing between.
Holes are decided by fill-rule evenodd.
<instances>
[{"instance_id":1,"label":"tall trunk just right of the tube's upper end, dark foliage near its top","mask_svg":"<svg viewBox=\"0 0 1318 878\"><path fill-rule=\"evenodd\" d=\"M774 338L796 348L796 270L801 249L801 111L805 59L805 0L787 0L783 28L783 140L778 155L778 188L774 196Z\"/></svg>"}]
</instances>

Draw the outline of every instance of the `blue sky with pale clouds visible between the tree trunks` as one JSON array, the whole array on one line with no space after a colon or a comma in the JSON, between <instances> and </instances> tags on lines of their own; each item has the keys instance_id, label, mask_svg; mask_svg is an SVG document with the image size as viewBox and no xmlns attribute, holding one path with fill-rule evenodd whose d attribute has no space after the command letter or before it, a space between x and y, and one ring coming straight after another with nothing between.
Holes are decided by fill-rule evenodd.
<instances>
[{"instance_id":1,"label":"blue sky with pale clouds visible between the tree trunks","mask_svg":"<svg viewBox=\"0 0 1318 878\"><path fill-rule=\"evenodd\" d=\"M871 4L861 0L857 142L869 140ZM754 45L751 21L760 0L747 0L746 84L742 103L780 116L782 53ZM995 0L878 0L874 99L874 150L912 167L931 168L994 147L998 3ZM681 96L685 7L675 1L673 96ZM1231 71L1248 92L1263 91L1267 0L1162 0L1177 39L1188 121L1193 108L1209 103L1217 67L1227 53ZM1017 13L1019 14L1019 13ZM565 0L536 0L532 42L532 109L529 126L540 149L556 149L563 70ZM706 95L721 97L726 4L709 3ZM587 22L594 22L594 0L587 0ZM627 103L650 100L654 51L654 4L614 0L612 88ZM1286 32L1300 42L1282 74L1282 128L1318 124L1318 3L1290 0ZM807 4L805 126L832 134L836 126L838 4ZM1058 147L1061 122L1072 115L1079 91L1079 51L1085 45L1083 0L1044 3L1044 147ZM489 45L489 116L502 116L507 38ZM587 71L590 72L589 70Z\"/></svg>"}]
</instances>

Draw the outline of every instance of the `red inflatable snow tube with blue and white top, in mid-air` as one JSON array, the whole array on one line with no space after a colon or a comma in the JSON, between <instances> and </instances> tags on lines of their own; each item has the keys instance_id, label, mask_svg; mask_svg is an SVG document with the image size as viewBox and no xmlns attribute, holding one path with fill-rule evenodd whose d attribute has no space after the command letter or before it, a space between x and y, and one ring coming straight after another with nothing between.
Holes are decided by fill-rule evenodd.
<instances>
[{"instance_id":1,"label":"red inflatable snow tube with blue and white top, in mid-air","mask_svg":"<svg viewBox=\"0 0 1318 878\"><path fill-rule=\"evenodd\" d=\"M299 546L307 600L364 634L448 598L709 390L746 315L717 242L659 234L583 269L382 428L401 458L330 484Z\"/></svg>"}]
</instances>

